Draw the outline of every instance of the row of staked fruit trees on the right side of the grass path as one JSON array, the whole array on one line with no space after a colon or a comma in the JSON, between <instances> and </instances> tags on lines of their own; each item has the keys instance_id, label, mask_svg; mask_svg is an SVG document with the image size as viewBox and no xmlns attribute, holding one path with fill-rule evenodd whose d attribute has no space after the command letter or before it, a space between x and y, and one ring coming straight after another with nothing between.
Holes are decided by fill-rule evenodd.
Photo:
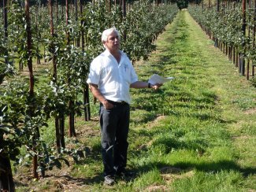
<instances>
[{"instance_id":1,"label":"row of staked fruit trees on the right side of the grass path","mask_svg":"<svg viewBox=\"0 0 256 192\"><path fill-rule=\"evenodd\" d=\"M239 73L254 79L256 65L256 2L217 1L216 5L190 6L189 12Z\"/></svg>"}]
</instances>

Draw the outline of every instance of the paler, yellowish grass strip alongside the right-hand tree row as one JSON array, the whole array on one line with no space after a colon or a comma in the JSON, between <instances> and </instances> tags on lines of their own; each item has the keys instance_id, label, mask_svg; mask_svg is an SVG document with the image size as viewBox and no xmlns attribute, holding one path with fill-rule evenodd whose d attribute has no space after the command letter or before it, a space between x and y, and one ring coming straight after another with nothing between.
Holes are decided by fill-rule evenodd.
<instances>
[{"instance_id":1,"label":"paler, yellowish grass strip alongside the right-hand tree row","mask_svg":"<svg viewBox=\"0 0 256 192\"><path fill-rule=\"evenodd\" d=\"M255 168L255 88L244 76L239 76L238 69L233 67L220 50L209 45L208 39L202 39L205 35L198 31L198 25L188 14L186 20L191 28L191 46L200 50L203 63L208 64L206 70L210 71L210 76L205 74L206 81L213 82L210 89L217 95L221 119L226 123L233 145L239 150L237 163L242 168Z\"/></svg>"}]
</instances>

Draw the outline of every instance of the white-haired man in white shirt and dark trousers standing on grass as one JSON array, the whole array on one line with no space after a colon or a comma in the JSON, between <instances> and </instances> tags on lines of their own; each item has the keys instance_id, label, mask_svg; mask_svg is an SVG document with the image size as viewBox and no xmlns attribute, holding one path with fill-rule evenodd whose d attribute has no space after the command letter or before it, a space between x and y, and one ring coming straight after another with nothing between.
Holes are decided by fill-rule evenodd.
<instances>
[{"instance_id":1,"label":"white-haired man in white shirt and dark trousers standing on grass","mask_svg":"<svg viewBox=\"0 0 256 192\"><path fill-rule=\"evenodd\" d=\"M120 35L116 28L102 32L106 50L91 62L87 79L91 93L100 104L100 125L104 183L112 185L114 175L127 175L125 170L128 151L130 118L129 88L154 88L161 85L138 81L126 54L119 50Z\"/></svg>"}]
</instances>

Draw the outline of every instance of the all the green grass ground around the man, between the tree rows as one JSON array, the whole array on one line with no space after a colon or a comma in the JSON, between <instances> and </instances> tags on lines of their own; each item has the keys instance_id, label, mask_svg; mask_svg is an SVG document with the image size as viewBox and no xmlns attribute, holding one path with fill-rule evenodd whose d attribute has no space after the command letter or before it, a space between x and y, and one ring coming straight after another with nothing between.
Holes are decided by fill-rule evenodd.
<instances>
[{"instance_id":1,"label":"all the green grass ground around the man, between the tree rows","mask_svg":"<svg viewBox=\"0 0 256 192\"><path fill-rule=\"evenodd\" d=\"M128 168L136 175L103 185L97 118L77 119L78 137L67 141L87 146L87 157L18 190L256 190L254 87L187 11L178 13L156 43L149 61L135 65L139 79L153 73L175 79L157 91L131 92ZM97 116L98 105L92 107Z\"/></svg>"}]
</instances>

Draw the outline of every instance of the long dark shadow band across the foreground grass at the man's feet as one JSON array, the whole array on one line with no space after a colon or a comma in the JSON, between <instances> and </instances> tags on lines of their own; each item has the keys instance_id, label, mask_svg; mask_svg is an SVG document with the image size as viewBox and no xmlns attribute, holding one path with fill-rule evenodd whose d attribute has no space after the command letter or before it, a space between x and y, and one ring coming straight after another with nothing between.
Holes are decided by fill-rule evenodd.
<instances>
[{"instance_id":1,"label":"long dark shadow band across the foreground grass at the man's feet","mask_svg":"<svg viewBox=\"0 0 256 192\"><path fill-rule=\"evenodd\" d=\"M164 164L161 162L154 162L150 164L143 165L139 168L132 168L130 171L134 172L132 176L129 177L116 177L118 181L125 181L126 183L132 182L139 175L146 174L147 172L152 171L152 169L158 168L158 170L163 174L176 174L180 175L186 172L190 172L195 169L200 172L211 172L218 173L221 171L234 171L240 172L244 177L248 177L249 175L256 174L256 168L241 168L234 161L217 161L217 162L203 162L203 163L176 163L176 164ZM52 175L46 175L45 178L51 178ZM65 180L68 183L76 183L76 186L86 186L86 185L94 185L94 184L103 184L103 175L95 174L90 178L82 178L82 177L73 177L71 175L54 175L54 179ZM26 183L20 183L19 181L15 182L16 186L28 186Z\"/></svg>"}]
</instances>

